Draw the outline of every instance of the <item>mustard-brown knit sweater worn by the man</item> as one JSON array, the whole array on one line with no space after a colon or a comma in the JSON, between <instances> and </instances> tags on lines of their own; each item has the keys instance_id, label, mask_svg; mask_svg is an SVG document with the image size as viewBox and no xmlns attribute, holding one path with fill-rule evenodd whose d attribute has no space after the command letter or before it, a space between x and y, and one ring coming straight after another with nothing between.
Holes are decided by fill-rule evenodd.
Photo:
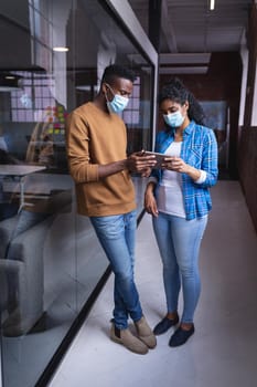
<instances>
[{"instance_id":1,"label":"mustard-brown knit sweater worn by the man","mask_svg":"<svg viewBox=\"0 0 257 387\"><path fill-rule=\"evenodd\" d=\"M136 208L128 170L98 177L98 165L125 159L126 148L126 126L117 114L103 112L89 102L68 115L66 151L78 213L101 217L127 213Z\"/></svg>"}]
</instances>

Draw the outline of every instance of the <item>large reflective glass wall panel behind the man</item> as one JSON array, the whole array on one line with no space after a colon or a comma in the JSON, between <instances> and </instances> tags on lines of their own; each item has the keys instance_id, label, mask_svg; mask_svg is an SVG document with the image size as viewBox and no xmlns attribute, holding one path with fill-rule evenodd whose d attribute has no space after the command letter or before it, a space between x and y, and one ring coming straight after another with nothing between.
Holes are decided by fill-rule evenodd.
<instances>
[{"instance_id":1,"label":"large reflective glass wall panel behind the man","mask_svg":"<svg viewBox=\"0 0 257 387\"><path fill-rule=\"evenodd\" d=\"M105 1L0 3L0 321L3 385L35 386L108 262L76 215L65 118L106 65L135 70L128 153L149 149L153 66ZM144 181L133 177L138 213Z\"/></svg>"}]
</instances>

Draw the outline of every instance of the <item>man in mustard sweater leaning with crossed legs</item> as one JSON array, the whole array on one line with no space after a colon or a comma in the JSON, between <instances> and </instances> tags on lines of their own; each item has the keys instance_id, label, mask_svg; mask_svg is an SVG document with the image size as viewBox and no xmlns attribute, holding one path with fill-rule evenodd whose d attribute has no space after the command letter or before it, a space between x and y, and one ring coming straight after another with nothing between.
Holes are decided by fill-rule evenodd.
<instances>
[{"instance_id":1,"label":"man in mustard sweater leaning with crossed legs","mask_svg":"<svg viewBox=\"0 0 257 387\"><path fill-rule=\"evenodd\" d=\"M126 155L126 126L118 113L129 102L133 81L135 74L126 67L106 67L95 100L67 118L66 148L77 211L90 218L115 274L110 338L146 354L157 341L142 314L133 279L137 212L130 172L147 175L156 161L149 156ZM137 336L128 328L128 317Z\"/></svg>"}]
</instances>

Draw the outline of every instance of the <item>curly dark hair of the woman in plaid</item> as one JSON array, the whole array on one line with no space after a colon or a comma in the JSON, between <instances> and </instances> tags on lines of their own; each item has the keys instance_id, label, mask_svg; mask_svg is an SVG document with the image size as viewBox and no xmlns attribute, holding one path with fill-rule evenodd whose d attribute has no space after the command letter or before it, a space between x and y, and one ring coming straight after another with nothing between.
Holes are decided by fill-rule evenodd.
<instances>
[{"instance_id":1,"label":"curly dark hair of the woman in plaid","mask_svg":"<svg viewBox=\"0 0 257 387\"><path fill-rule=\"evenodd\" d=\"M174 101L180 105L183 105L188 101L189 118L195 121L195 123L199 125L205 125L205 114L202 106L178 77L173 77L161 88L159 94L159 103L161 104L164 100Z\"/></svg>"}]
</instances>

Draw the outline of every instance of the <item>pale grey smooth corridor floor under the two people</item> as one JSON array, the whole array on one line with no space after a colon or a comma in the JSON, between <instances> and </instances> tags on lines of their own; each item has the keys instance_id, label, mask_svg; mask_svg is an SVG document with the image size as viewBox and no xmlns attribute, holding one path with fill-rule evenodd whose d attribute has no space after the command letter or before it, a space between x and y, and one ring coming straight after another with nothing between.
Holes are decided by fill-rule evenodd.
<instances>
[{"instance_id":1,"label":"pale grey smooth corridor floor under the two people","mask_svg":"<svg viewBox=\"0 0 257 387\"><path fill-rule=\"evenodd\" d=\"M50 387L256 387L257 237L237 181L212 189L213 211L201 250L202 294L195 334L170 348L171 332L147 355L113 343L113 276ZM138 229L136 280L153 326L165 313L161 263L150 216Z\"/></svg>"}]
</instances>

